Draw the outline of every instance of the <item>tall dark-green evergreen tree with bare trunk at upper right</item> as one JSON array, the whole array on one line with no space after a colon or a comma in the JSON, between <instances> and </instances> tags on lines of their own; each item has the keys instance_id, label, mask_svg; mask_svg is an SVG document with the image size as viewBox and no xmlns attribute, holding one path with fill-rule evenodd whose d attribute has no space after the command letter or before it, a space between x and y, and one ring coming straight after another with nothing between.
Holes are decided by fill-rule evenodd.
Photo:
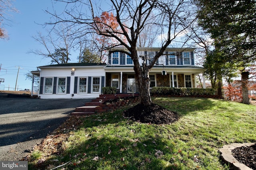
<instances>
[{"instance_id":1,"label":"tall dark-green evergreen tree with bare trunk at upper right","mask_svg":"<svg viewBox=\"0 0 256 170\"><path fill-rule=\"evenodd\" d=\"M199 24L211 34L223 60L246 67L256 61L255 0L195 0ZM242 103L249 104L246 74L242 69Z\"/></svg>"}]
</instances>

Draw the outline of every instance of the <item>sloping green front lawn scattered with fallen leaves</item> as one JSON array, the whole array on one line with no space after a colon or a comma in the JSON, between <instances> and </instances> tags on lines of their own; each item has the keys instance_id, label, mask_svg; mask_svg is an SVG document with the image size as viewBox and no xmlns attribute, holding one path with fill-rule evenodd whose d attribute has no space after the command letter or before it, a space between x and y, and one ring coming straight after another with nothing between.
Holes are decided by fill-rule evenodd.
<instances>
[{"instance_id":1,"label":"sloping green front lawn scattered with fallen leaves","mask_svg":"<svg viewBox=\"0 0 256 170\"><path fill-rule=\"evenodd\" d=\"M201 98L152 100L180 119L170 125L142 124L122 117L124 109L91 115L63 142L66 150L46 162L58 166L71 160L64 167L74 170L227 170L220 147L256 142L255 106Z\"/></svg>"}]
</instances>

